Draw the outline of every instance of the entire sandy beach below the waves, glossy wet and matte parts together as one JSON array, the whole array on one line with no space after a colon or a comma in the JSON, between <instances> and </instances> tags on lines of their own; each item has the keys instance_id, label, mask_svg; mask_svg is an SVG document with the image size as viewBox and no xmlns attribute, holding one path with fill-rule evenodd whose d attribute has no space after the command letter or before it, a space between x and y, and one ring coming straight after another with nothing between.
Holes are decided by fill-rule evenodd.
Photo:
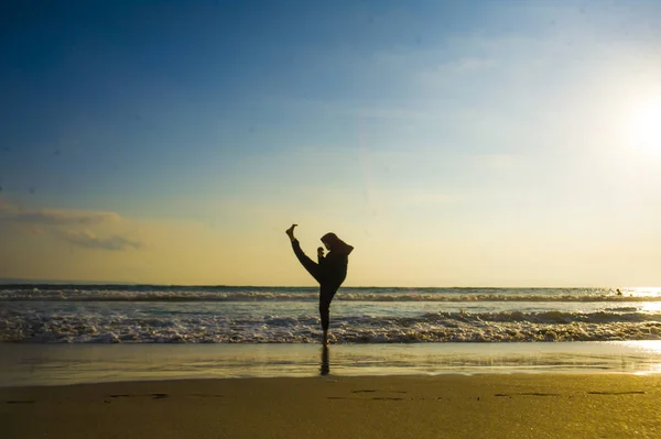
<instances>
[{"instance_id":1,"label":"entire sandy beach below the waves, glossy wet and matte parts together","mask_svg":"<svg viewBox=\"0 0 661 439\"><path fill-rule=\"evenodd\" d=\"M0 437L657 438L659 344L0 343Z\"/></svg>"}]
</instances>

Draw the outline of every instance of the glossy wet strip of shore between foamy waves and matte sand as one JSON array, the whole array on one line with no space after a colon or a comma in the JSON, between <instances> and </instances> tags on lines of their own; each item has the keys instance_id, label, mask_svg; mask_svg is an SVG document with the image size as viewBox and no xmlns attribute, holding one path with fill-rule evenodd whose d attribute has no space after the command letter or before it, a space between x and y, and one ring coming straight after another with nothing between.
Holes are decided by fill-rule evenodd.
<instances>
[{"instance_id":1,"label":"glossy wet strip of shore between foamy waves and matte sand","mask_svg":"<svg viewBox=\"0 0 661 439\"><path fill-rule=\"evenodd\" d=\"M0 388L121 381L657 374L661 341L412 344L0 343Z\"/></svg>"}]
</instances>

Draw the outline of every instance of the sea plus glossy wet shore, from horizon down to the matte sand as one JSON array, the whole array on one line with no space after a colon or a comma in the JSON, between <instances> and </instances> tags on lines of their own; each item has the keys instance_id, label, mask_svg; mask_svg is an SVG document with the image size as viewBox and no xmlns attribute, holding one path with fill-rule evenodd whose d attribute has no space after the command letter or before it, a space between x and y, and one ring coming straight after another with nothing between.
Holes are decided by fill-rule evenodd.
<instances>
[{"instance_id":1,"label":"sea plus glossy wet shore, from horizon down to the matte sand","mask_svg":"<svg viewBox=\"0 0 661 439\"><path fill-rule=\"evenodd\" d=\"M0 386L661 371L661 288L6 285Z\"/></svg>"}]
</instances>

